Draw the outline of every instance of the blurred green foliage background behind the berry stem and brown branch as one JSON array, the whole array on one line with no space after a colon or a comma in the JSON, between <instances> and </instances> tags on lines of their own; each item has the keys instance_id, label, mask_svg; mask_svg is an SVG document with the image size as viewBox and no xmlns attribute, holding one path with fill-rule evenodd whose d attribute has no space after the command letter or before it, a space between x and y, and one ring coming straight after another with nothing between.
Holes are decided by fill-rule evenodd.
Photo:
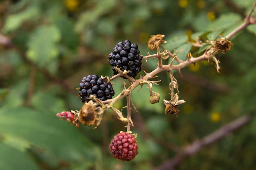
<instances>
[{"instance_id":1,"label":"blurred green foliage background behind the berry stem and brown branch","mask_svg":"<svg viewBox=\"0 0 256 170\"><path fill-rule=\"evenodd\" d=\"M228 122L256 111L256 25L232 39L231 51L214 64L182 69L178 117L164 114L163 102L150 104L144 86L132 93L139 154L130 162L114 159L111 139L125 124L107 111L98 129L76 129L55 115L79 110L81 79L112 76L106 55L126 39L141 55L150 35L164 34L165 48L188 49L205 42L209 31L227 35L243 23L255 0L0 0L0 169L1 170L150 170L173 158L183 146ZM253 15L256 15L254 11ZM168 60L164 61L167 64ZM156 60L143 62L150 72ZM143 71L141 72L143 75ZM153 86L170 100L169 78ZM156 80L157 80L156 79ZM124 79L115 79L115 96ZM128 83L126 81L126 83ZM115 107L126 106L120 100ZM126 110L124 109L124 116ZM256 118L240 130L176 166L177 170L256 170Z\"/></svg>"}]
</instances>

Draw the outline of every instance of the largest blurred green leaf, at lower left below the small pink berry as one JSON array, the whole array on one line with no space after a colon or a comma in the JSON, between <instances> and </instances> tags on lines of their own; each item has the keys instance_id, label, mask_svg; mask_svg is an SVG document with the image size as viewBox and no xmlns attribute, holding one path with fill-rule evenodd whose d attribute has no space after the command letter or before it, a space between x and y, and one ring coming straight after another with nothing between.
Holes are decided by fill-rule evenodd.
<instances>
[{"instance_id":1,"label":"largest blurred green leaf, at lower left below the small pink berry","mask_svg":"<svg viewBox=\"0 0 256 170\"><path fill-rule=\"evenodd\" d=\"M27 141L58 159L93 159L93 144L74 126L55 115L48 110L39 112L25 107L0 109L0 134L12 136L17 142Z\"/></svg>"}]
</instances>

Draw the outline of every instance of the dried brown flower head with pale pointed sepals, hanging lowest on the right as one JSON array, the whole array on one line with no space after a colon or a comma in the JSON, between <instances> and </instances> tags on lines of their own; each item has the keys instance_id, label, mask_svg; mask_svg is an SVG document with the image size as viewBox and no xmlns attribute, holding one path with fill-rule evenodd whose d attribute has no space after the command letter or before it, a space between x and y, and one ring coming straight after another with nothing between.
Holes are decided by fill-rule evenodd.
<instances>
[{"instance_id":1,"label":"dried brown flower head with pale pointed sepals, hanging lowest on the right","mask_svg":"<svg viewBox=\"0 0 256 170\"><path fill-rule=\"evenodd\" d=\"M185 103L185 101L179 100L179 96L177 93L174 95L174 97L170 101L167 101L164 99L164 104L166 105L165 114L175 115L177 117L177 114L180 112L177 106L183 103Z\"/></svg>"}]
</instances>

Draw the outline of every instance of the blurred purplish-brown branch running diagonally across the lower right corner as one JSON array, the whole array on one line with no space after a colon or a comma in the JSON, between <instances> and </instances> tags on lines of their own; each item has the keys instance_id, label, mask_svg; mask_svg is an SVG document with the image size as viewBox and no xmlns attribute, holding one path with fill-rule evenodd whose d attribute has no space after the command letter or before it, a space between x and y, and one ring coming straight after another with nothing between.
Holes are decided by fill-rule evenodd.
<instances>
[{"instance_id":1,"label":"blurred purplish-brown branch running diagonally across the lower right corner","mask_svg":"<svg viewBox=\"0 0 256 170\"><path fill-rule=\"evenodd\" d=\"M227 134L233 132L234 130L237 130L242 126L248 124L252 120L252 118L253 115L250 114L239 117L238 119L222 126L215 132L212 132L211 134L203 137L202 139L196 140L192 144L184 146L183 149L174 158L164 161L161 166L154 168L154 170L172 170L175 166L179 165L182 161L184 161L186 157L196 154L204 146L212 144L219 139L225 137Z\"/></svg>"}]
</instances>

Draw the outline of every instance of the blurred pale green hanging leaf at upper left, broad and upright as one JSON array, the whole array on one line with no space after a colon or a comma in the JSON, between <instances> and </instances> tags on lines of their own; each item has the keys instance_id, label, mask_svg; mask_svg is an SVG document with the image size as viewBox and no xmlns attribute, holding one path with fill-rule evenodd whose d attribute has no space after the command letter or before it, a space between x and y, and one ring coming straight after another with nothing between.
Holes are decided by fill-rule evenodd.
<instances>
[{"instance_id":1,"label":"blurred pale green hanging leaf at upper left, broad and upright","mask_svg":"<svg viewBox=\"0 0 256 170\"><path fill-rule=\"evenodd\" d=\"M58 56L56 42L61 35L55 26L40 26L31 34L27 56L39 66L45 66Z\"/></svg>"}]
</instances>

